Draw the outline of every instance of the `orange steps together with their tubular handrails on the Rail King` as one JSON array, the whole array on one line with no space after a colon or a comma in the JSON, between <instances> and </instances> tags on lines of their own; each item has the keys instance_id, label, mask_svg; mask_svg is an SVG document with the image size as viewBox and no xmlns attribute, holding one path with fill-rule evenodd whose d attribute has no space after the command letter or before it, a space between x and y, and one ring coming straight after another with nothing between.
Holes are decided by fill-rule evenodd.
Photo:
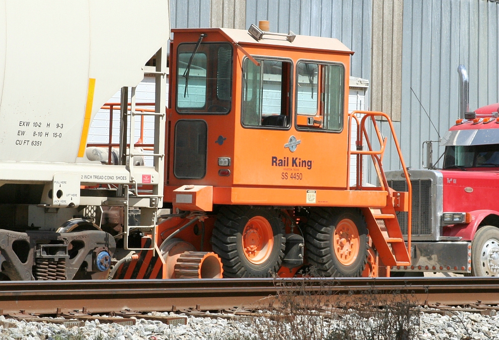
<instances>
[{"instance_id":1,"label":"orange steps together with their tubular handrails on the Rail King","mask_svg":"<svg viewBox=\"0 0 499 340\"><path fill-rule=\"evenodd\" d=\"M362 115L359 118L357 115ZM388 182L385 177L385 172L383 171L383 156L387 144L387 137L382 136L381 131L378 128L375 117L380 117L386 119L390 126L390 131L393 136L393 141L397 149L397 153L400 159L402 169L404 171L405 180L407 181L407 192L396 192L388 186ZM380 150L374 151L371 141L366 128L366 121L370 119L374 125L374 131L378 138L378 142L381 146ZM355 141L356 150L351 150L348 147L348 163L350 162L350 155L357 156L357 182L353 189L363 190L363 156L369 155L374 163L374 169L378 175L381 190L387 192L386 206L381 209L363 209L364 216L366 218L366 223L368 226L368 231L373 244L378 251L381 261L384 265L396 266L396 265L410 265L410 249L411 249L411 194L412 188L409 180L409 174L405 167L404 159L402 157L402 152L395 135L395 130L393 128L393 123L390 117L383 112L376 111L353 111L348 117L348 141L351 138L351 126L352 120L357 123L357 139ZM369 150L363 150L364 140ZM349 168L349 164L348 164ZM347 185L349 186L349 178L347 176ZM367 188L366 188L367 189ZM369 187L369 190L373 189ZM395 200L399 202L400 195L403 195L403 201L406 203L407 217L407 246L403 239L402 231L400 229L399 222L396 216L396 206ZM400 211L400 209L398 210Z\"/></svg>"}]
</instances>

